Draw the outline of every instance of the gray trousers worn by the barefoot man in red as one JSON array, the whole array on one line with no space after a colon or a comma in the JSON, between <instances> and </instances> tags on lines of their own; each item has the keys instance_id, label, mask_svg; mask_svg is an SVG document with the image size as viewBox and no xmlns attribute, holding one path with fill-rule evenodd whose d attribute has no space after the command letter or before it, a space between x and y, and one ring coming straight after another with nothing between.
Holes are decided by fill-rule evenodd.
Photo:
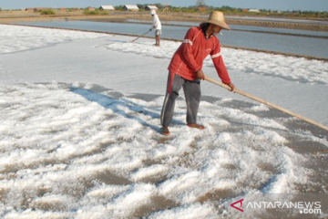
<instances>
[{"instance_id":1,"label":"gray trousers worn by the barefoot man in red","mask_svg":"<svg viewBox=\"0 0 328 219\"><path fill-rule=\"evenodd\" d=\"M179 75L169 73L167 94L164 99L160 115L162 126L169 126L172 121L175 101L179 97L179 90L183 87L187 104L187 123L196 123L200 107L200 79L188 80Z\"/></svg>"}]
</instances>

